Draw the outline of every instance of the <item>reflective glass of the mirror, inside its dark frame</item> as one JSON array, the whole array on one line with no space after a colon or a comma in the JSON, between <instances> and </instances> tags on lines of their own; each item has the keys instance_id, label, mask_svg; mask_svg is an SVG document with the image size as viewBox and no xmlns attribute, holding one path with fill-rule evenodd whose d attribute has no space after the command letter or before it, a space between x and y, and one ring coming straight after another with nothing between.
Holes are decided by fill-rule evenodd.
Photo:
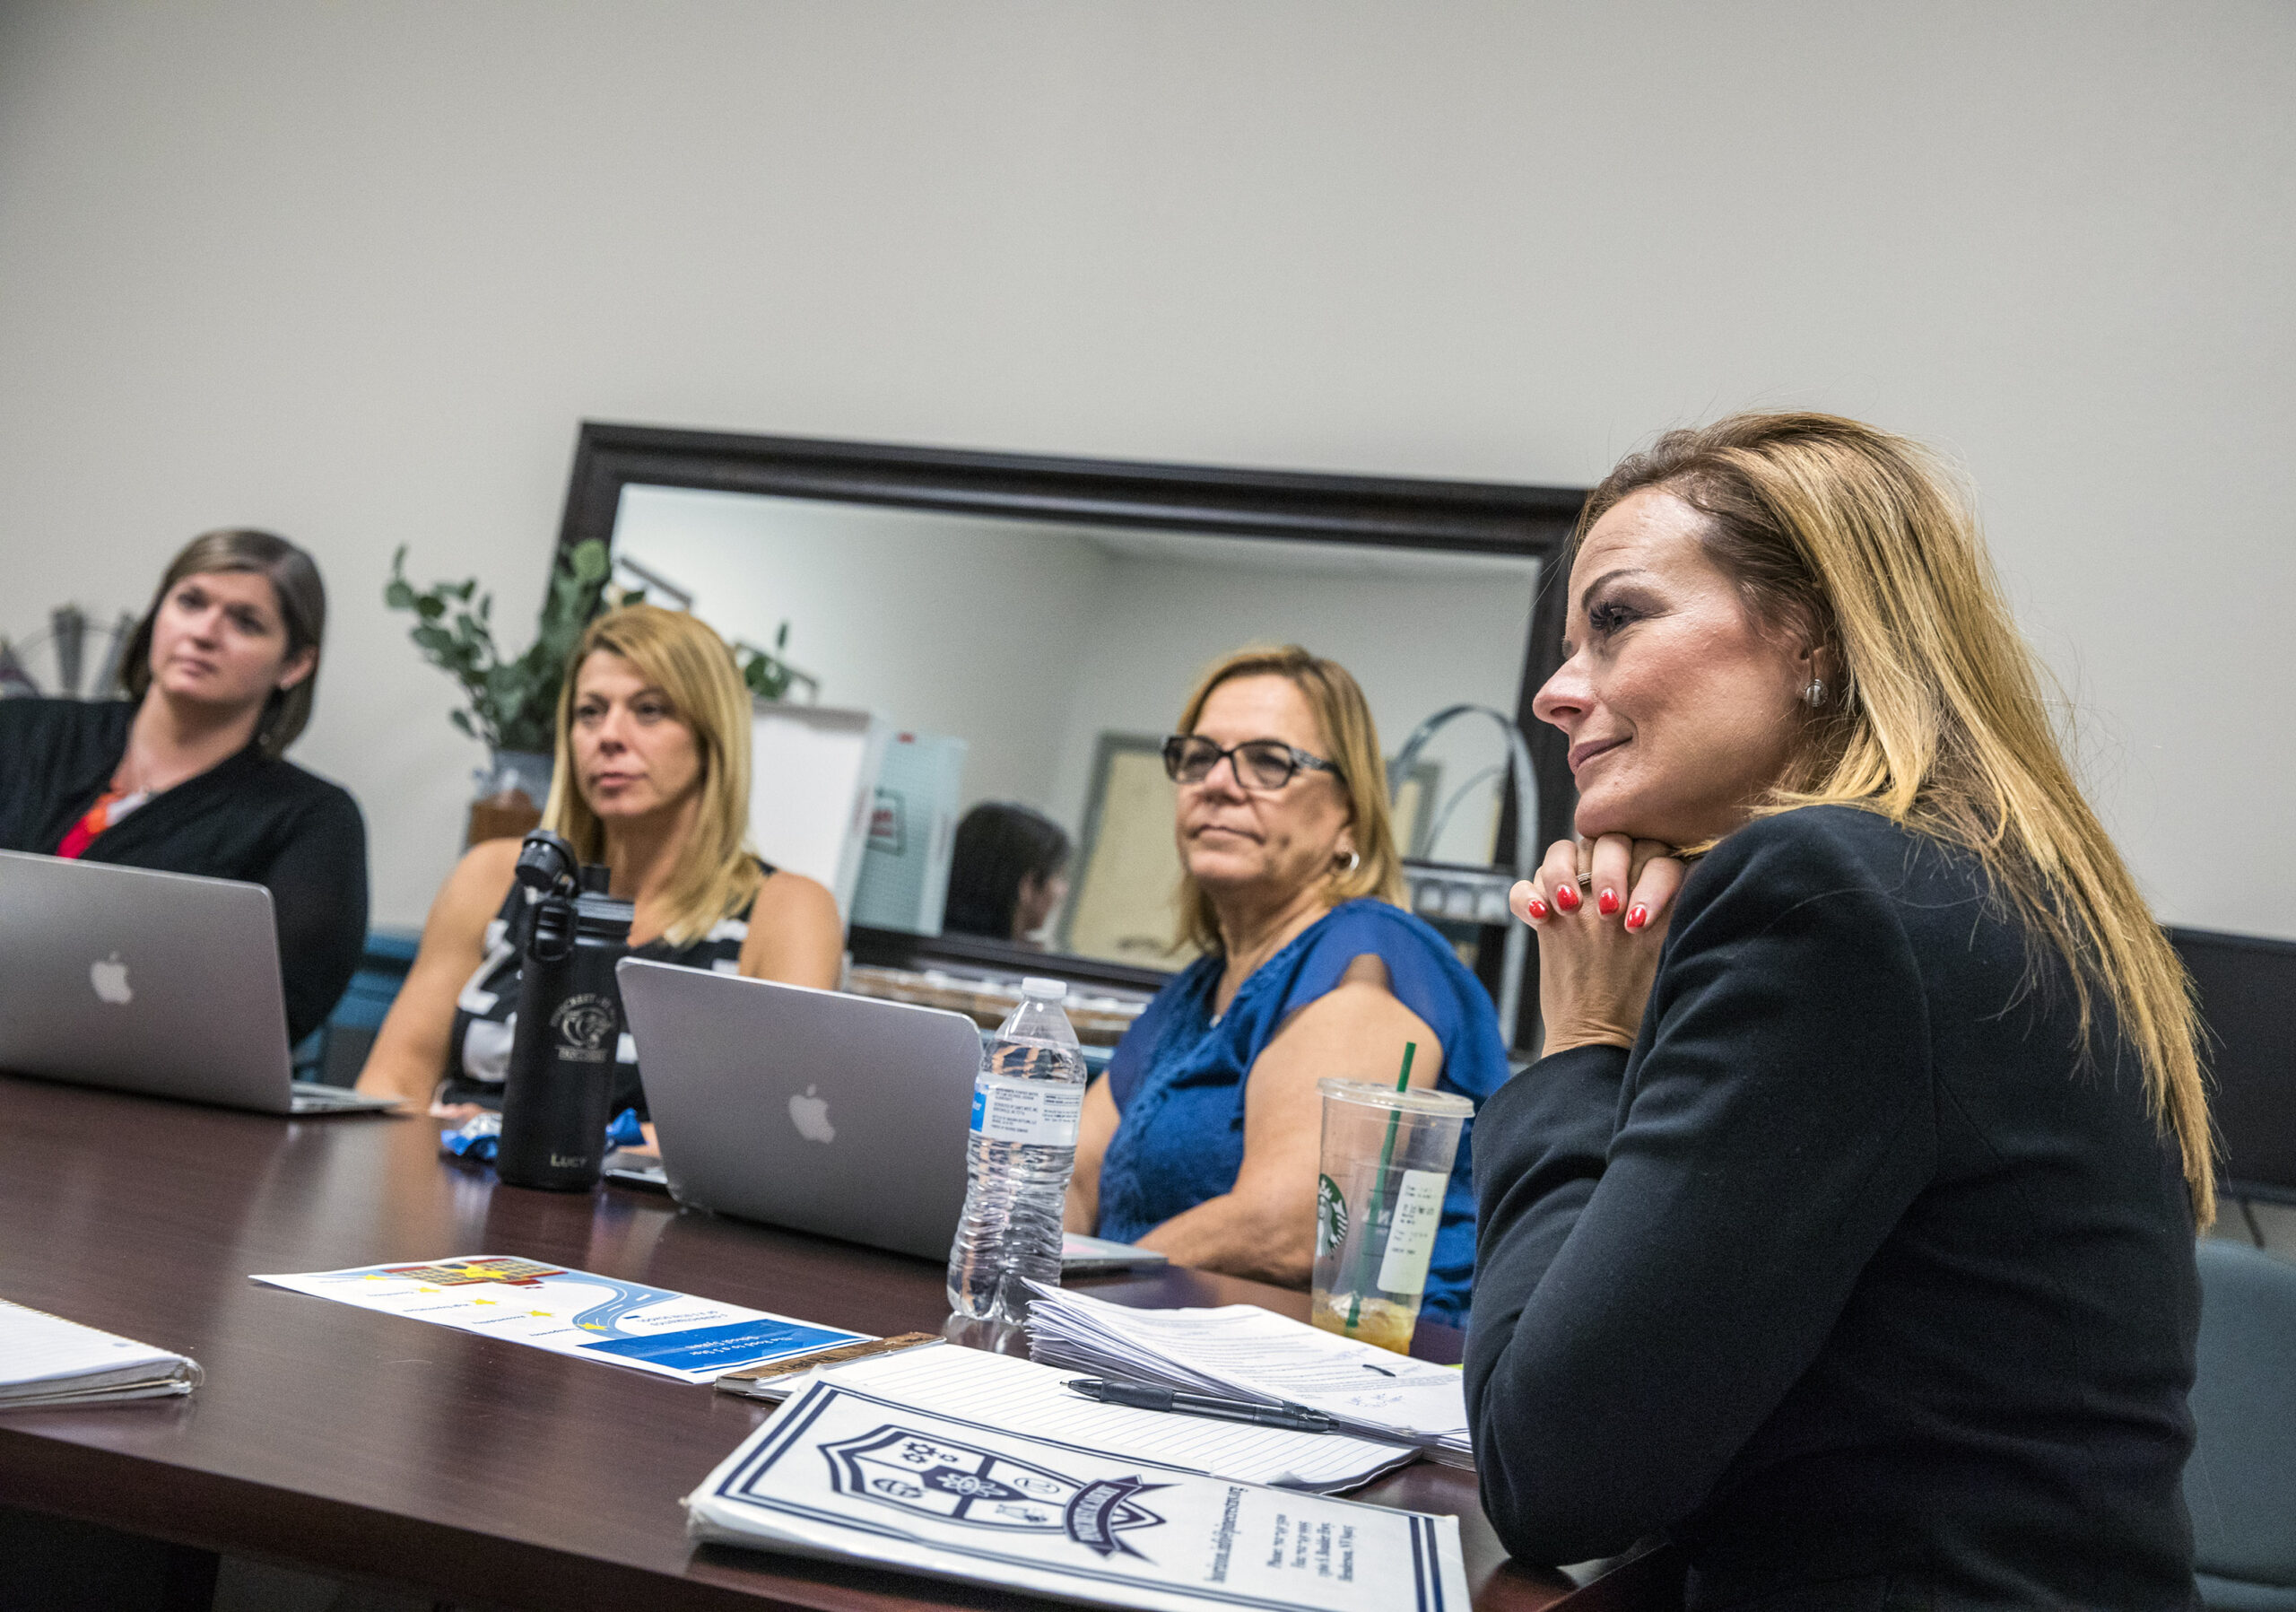
<instances>
[{"instance_id":1,"label":"reflective glass of the mirror, inside its dark frame","mask_svg":"<svg viewBox=\"0 0 2296 1612\"><path fill-rule=\"evenodd\" d=\"M1176 969L1173 785L1194 677L1304 643L1362 682L1391 758L1428 714L1513 710L1538 563L631 485L618 581L788 673L753 827L852 923ZM1396 783L1414 859L1495 861L1506 751L1435 735ZM840 790L863 788L859 822Z\"/></svg>"}]
</instances>

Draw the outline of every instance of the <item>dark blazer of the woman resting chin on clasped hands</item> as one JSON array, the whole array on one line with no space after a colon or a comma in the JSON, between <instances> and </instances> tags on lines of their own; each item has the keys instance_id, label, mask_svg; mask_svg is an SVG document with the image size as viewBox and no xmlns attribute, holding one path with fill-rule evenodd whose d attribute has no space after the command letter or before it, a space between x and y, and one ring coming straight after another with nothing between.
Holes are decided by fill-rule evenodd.
<instances>
[{"instance_id":1,"label":"dark blazer of the woman resting chin on clasped hands","mask_svg":"<svg viewBox=\"0 0 2296 1612\"><path fill-rule=\"evenodd\" d=\"M2048 953L2041 953L2043 958ZM2193 1607L2174 1144L1981 873L1828 806L1685 882L1632 1052L1474 1121L1467 1408L1538 1561L1669 1534L1690 1605Z\"/></svg>"}]
</instances>

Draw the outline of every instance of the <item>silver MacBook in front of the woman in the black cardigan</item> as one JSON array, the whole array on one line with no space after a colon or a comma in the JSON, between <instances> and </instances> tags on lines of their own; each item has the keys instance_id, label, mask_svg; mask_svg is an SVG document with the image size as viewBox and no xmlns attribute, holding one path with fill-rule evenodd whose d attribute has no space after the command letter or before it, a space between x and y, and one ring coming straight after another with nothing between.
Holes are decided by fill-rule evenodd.
<instances>
[{"instance_id":1,"label":"silver MacBook in front of the woman in the black cardigan","mask_svg":"<svg viewBox=\"0 0 2296 1612\"><path fill-rule=\"evenodd\" d=\"M388 1109L292 1077L271 891L0 852L0 1070L262 1114Z\"/></svg>"}]
</instances>

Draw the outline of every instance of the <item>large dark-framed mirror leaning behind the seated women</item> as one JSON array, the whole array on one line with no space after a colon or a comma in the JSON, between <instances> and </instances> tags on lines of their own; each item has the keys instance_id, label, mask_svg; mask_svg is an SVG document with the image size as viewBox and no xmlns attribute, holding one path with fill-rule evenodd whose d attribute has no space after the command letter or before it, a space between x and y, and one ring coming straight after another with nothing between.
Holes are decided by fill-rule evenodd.
<instances>
[{"instance_id":1,"label":"large dark-framed mirror leaning behind the seated women","mask_svg":"<svg viewBox=\"0 0 2296 1612\"><path fill-rule=\"evenodd\" d=\"M1513 866L1518 813L1536 845L1570 822L1561 737L1529 700L1559 661L1561 588L1543 583L1582 498L585 423L560 547L602 540L625 588L767 652L792 707L872 714L879 744L914 746L895 758L914 778L879 795L884 843L914 834L905 790L944 790L957 813L1017 806L1068 838L1065 893L1019 919L1033 932L983 932L994 923L932 902L928 921L872 923L882 902L850 905L854 958L872 967L1026 967L1118 990L1182 967L1157 744L1235 648L1302 643L1348 666L1391 762L1430 714L1499 712L1527 739L1534 799L1497 721L1444 723L1391 772L1414 907L1497 1001L1518 990L1490 909L1513 875L1492 868ZM769 772L760 760L760 797Z\"/></svg>"}]
</instances>

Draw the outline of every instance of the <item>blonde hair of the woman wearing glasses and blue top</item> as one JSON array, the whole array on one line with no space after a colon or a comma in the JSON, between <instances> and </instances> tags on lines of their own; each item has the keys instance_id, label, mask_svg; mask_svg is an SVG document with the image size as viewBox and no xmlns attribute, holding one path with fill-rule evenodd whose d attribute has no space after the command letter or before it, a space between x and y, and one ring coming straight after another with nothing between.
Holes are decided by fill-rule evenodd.
<instances>
[{"instance_id":1,"label":"blonde hair of the woman wearing glasses and blue top","mask_svg":"<svg viewBox=\"0 0 2296 1612\"><path fill-rule=\"evenodd\" d=\"M1327 762L1339 767L1339 788L1348 797L1348 815L1355 827L1355 870L1334 868L1325 898L1329 905L1378 896L1396 907L1403 905L1403 854L1396 850L1394 817L1387 813L1387 762L1380 758L1380 728L1371 721L1371 700L1339 661L1309 654L1297 643L1281 648L1249 648L1215 661L1196 689L1180 707L1178 733L1194 733L1203 716L1203 703L1212 689L1235 677L1288 677L1316 712L1322 742L1329 744ZM1180 861L1180 944L1196 951L1221 951L1219 914L1196 875Z\"/></svg>"}]
</instances>

